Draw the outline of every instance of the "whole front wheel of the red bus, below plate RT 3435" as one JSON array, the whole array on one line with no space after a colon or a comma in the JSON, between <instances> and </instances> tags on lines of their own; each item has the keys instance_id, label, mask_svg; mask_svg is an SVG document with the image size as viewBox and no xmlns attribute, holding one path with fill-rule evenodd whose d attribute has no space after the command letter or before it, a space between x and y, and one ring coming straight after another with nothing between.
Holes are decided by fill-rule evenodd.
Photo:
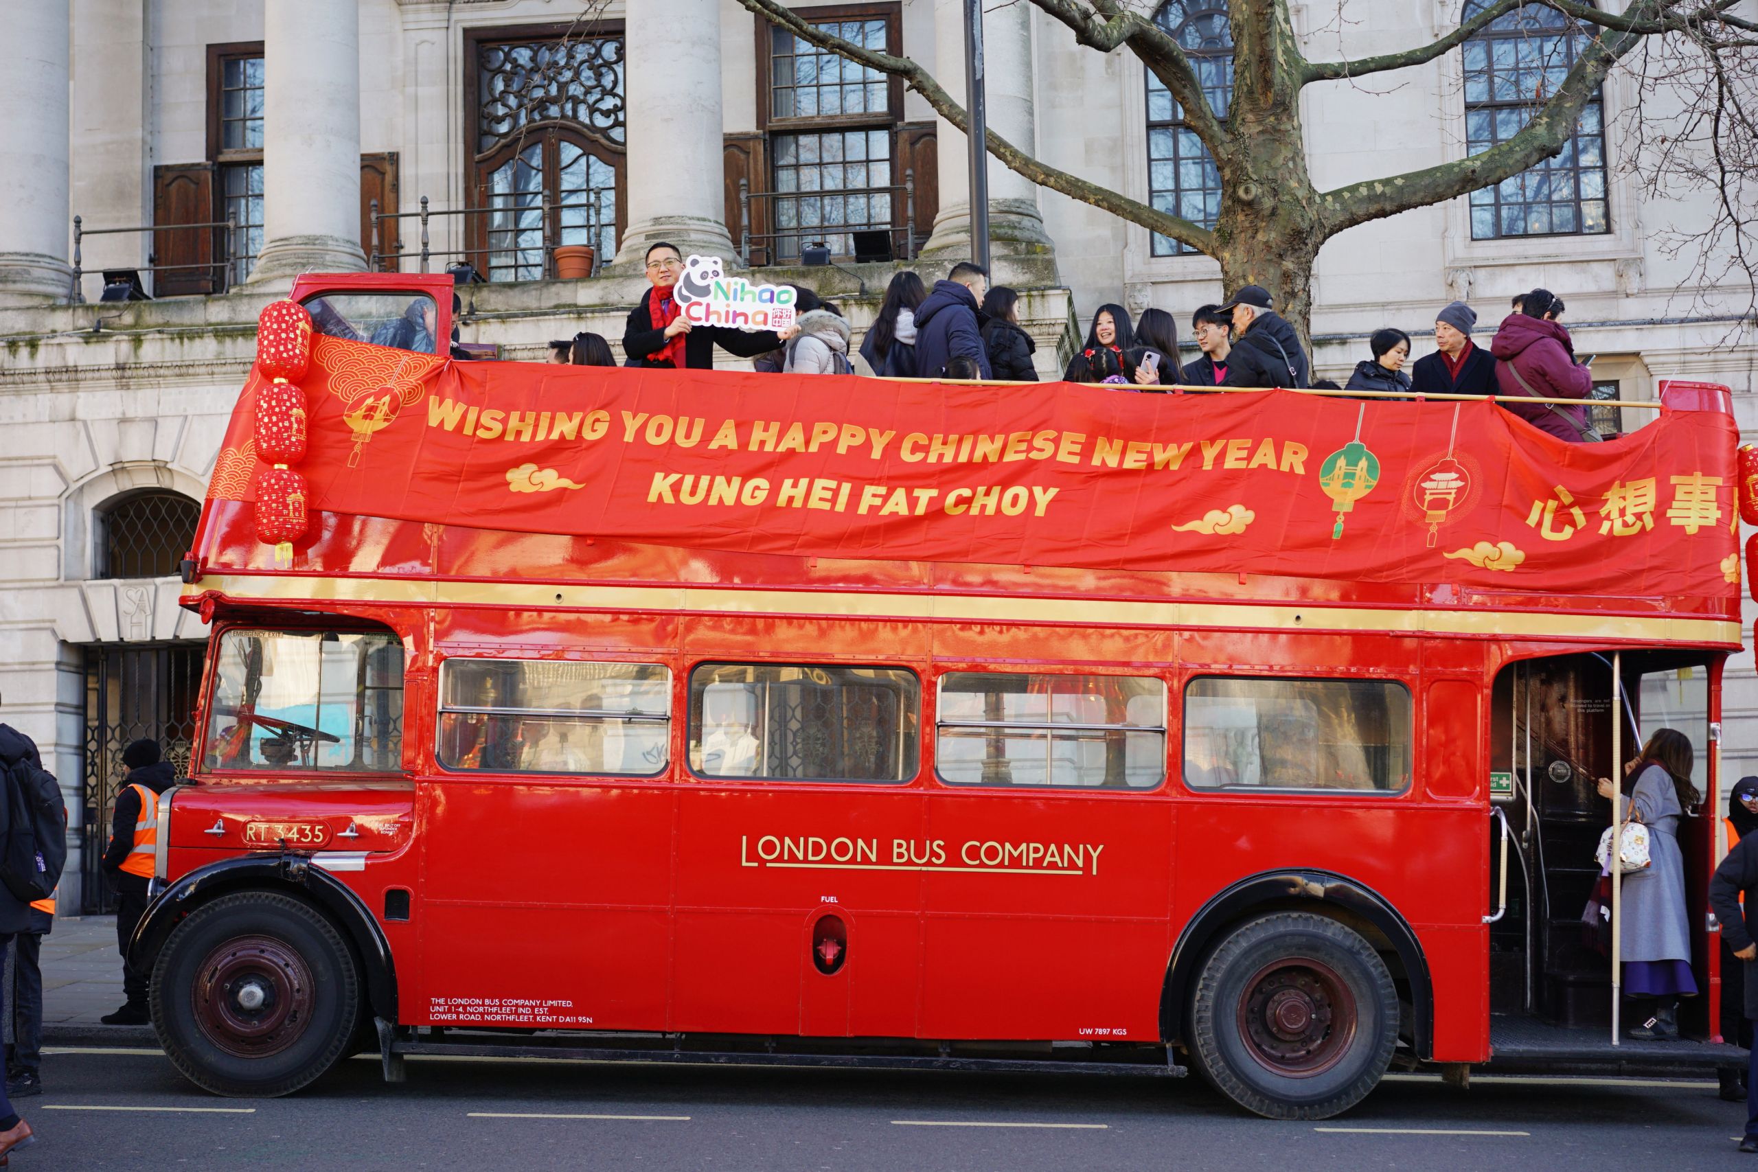
<instances>
[{"instance_id":1,"label":"whole front wheel of the red bus, below plate RT 3435","mask_svg":"<svg viewBox=\"0 0 1758 1172\"><path fill-rule=\"evenodd\" d=\"M308 903L267 891L197 908L158 952L153 1026L171 1063L214 1095L288 1095L353 1037L360 977Z\"/></svg>"}]
</instances>

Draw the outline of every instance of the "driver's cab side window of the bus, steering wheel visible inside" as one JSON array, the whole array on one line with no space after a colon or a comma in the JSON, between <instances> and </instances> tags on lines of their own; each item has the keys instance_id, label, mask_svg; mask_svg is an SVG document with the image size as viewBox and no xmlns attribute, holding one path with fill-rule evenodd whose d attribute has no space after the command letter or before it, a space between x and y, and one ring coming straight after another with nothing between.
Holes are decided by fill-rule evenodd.
<instances>
[{"instance_id":1,"label":"driver's cab side window of the bus, steering wheel visible inside","mask_svg":"<svg viewBox=\"0 0 1758 1172\"><path fill-rule=\"evenodd\" d=\"M227 631L207 768L403 768L403 643L374 631Z\"/></svg>"}]
</instances>

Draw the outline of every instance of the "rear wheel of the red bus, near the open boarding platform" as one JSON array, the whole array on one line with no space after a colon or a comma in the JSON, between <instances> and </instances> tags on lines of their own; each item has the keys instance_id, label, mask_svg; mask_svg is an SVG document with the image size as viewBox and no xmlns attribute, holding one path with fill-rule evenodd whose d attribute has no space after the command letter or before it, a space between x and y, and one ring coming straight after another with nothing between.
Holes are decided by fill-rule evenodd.
<instances>
[{"instance_id":1,"label":"rear wheel of the red bus, near the open boarding platform","mask_svg":"<svg viewBox=\"0 0 1758 1172\"><path fill-rule=\"evenodd\" d=\"M1378 1084L1398 1045L1398 988L1373 945L1308 912L1220 942L1190 1005L1197 1065L1269 1119L1327 1119Z\"/></svg>"}]
</instances>

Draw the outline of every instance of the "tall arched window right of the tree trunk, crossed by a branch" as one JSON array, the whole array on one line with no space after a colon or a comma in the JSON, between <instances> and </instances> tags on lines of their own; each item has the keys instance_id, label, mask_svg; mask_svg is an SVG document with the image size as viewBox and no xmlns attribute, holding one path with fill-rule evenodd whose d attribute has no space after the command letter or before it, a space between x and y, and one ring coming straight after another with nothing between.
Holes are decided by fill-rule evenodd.
<instances>
[{"instance_id":1,"label":"tall arched window right of the tree trunk, crossed by a branch","mask_svg":"<svg viewBox=\"0 0 1758 1172\"><path fill-rule=\"evenodd\" d=\"M1461 19L1489 0L1466 0ZM1526 4L1464 44L1464 142L1482 155L1517 135L1551 100L1587 44L1587 32L1556 9ZM1605 202L1602 95L1580 111L1563 153L1531 170L1471 192L1471 239L1595 235L1612 230Z\"/></svg>"}]
</instances>

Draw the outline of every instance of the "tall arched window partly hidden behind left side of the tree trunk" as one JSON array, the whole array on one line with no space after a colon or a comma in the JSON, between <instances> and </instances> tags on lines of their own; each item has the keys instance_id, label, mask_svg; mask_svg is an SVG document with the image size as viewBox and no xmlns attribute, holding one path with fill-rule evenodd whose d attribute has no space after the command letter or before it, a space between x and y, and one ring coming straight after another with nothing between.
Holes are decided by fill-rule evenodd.
<instances>
[{"instance_id":1,"label":"tall arched window partly hidden behind left side of the tree trunk","mask_svg":"<svg viewBox=\"0 0 1758 1172\"><path fill-rule=\"evenodd\" d=\"M1225 118L1232 102L1232 26L1224 0L1166 0L1153 14L1185 49L1210 109ZM1185 123L1171 91L1148 74L1148 202L1204 228L1220 218L1220 170ZM1169 235L1153 237L1155 257L1195 251Z\"/></svg>"}]
</instances>

